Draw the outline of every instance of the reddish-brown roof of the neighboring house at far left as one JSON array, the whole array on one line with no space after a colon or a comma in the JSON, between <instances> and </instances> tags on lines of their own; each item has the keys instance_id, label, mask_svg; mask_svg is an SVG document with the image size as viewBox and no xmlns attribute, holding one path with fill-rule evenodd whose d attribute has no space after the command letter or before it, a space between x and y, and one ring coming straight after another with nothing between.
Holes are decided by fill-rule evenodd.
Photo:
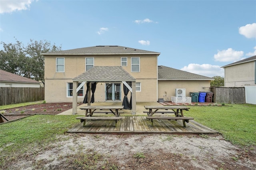
<instances>
[{"instance_id":1,"label":"reddish-brown roof of the neighboring house at far left","mask_svg":"<svg viewBox=\"0 0 256 170\"><path fill-rule=\"evenodd\" d=\"M0 69L0 81L19 82L19 83L40 83L38 81L22 77Z\"/></svg>"}]
</instances>

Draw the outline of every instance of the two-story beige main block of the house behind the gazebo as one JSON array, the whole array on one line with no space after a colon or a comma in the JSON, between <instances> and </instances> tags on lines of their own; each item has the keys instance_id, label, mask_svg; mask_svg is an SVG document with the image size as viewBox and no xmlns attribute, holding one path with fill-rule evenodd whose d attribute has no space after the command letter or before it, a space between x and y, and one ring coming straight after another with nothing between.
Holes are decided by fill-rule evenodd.
<instances>
[{"instance_id":1,"label":"two-story beige main block of the house behind the gazebo","mask_svg":"<svg viewBox=\"0 0 256 170\"><path fill-rule=\"evenodd\" d=\"M136 79L136 101L157 99L157 58L160 53L109 45L42 53L45 59L46 102L72 102L73 79L94 66L122 67ZM101 68L101 67L100 67ZM105 68L106 69L106 68ZM97 76L97 75L95 75ZM111 77L111 76L110 76ZM98 80L95 101L122 101L123 83L109 79ZM78 83L78 86L80 83ZM83 101L85 87L78 91L78 101ZM135 101L135 102L136 102Z\"/></svg>"}]
</instances>

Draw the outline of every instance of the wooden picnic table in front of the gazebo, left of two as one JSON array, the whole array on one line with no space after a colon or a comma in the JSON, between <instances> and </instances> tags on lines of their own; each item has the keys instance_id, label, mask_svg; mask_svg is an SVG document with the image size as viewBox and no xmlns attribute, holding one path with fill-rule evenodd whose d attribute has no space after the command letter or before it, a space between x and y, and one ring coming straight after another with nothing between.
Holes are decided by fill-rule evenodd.
<instances>
[{"instance_id":1,"label":"wooden picnic table in front of the gazebo, left of two","mask_svg":"<svg viewBox=\"0 0 256 170\"><path fill-rule=\"evenodd\" d=\"M83 127L85 127L85 123L87 119L90 120L115 120L116 123L118 120L122 119L120 117L119 110L124 109L124 106L84 106L80 107L80 109L85 110L85 116L84 117L76 117L76 119L80 119L81 122L84 122ZM106 111L108 110L108 111ZM93 117L93 113L113 113L114 117ZM116 125L115 125L116 126Z\"/></svg>"}]
</instances>

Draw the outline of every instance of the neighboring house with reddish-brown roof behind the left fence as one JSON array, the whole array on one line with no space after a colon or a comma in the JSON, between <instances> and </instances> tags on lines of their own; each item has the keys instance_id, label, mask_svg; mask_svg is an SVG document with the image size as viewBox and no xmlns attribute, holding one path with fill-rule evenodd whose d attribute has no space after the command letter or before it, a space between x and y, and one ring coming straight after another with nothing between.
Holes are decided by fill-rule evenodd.
<instances>
[{"instance_id":1,"label":"neighboring house with reddish-brown roof behind the left fence","mask_svg":"<svg viewBox=\"0 0 256 170\"><path fill-rule=\"evenodd\" d=\"M40 87L40 82L0 69L0 87Z\"/></svg>"}]
</instances>

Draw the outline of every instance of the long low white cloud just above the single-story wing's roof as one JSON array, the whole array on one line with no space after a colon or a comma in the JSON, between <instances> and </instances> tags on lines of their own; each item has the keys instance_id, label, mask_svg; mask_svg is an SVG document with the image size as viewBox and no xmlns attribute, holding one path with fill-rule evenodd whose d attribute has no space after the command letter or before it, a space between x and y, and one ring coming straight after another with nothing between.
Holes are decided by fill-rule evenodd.
<instances>
[{"instance_id":1,"label":"long low white cloud just above the single-story wing's roof","mask_svg":"<svg viewBox=\"0 0 256 170\"><path fill-rule=\"evenodd\" d=\"M221 76L224 77L224 69L218 65L210 64L194 64L191 63L188 66L184 66L181 70L188 71L190 73L204 75L207 77Z\"/></svg>"}]
</instances>

